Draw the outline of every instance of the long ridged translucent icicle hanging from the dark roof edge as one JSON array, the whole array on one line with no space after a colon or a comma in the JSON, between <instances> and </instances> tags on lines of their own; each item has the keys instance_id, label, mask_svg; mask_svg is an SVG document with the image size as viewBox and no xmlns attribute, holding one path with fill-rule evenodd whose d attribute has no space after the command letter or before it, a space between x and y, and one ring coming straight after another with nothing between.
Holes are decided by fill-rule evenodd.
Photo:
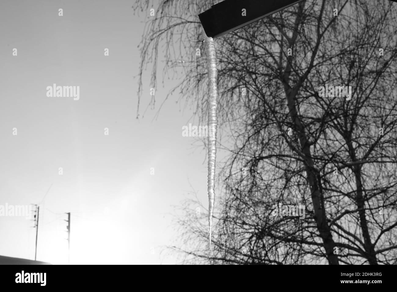
<instances>
[{"instance_id":1,"label":"long ridged translucent icicle hanging from the dark roof edge","mask_svg":"<svg viewBox=\"0 0 397 292\"><path fill-rule=\"evenodd\" d=\"M207 69L208 69L208 228L209 241L211 250L211 235L212 235L212 216L214 213L215 204L215 161L216 161L216 131L218 127L218 115L216 112L218 88L216 81L218 79L218 70L216 68L216 54L215 44L212 37L207 37L202 29L204 35L204 43L207 55Z\"/></svg>"}]
</instances>

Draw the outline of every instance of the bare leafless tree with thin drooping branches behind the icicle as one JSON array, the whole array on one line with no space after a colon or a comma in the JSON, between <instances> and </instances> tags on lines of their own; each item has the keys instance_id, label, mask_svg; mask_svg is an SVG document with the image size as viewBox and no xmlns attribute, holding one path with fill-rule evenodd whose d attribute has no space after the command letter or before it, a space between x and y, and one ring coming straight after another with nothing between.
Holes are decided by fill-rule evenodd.
<instances>
[{"instance_id":1,"label":"bare leafless tree with thin drooping branches behind the icicle","mask_svg":"<svg viewBox=\"0 0 397 292\"><path fill-rule=\"evenodd\" d=\"M165 56L164 72L183 72L177 88L201 120L206 66L195 52L207 5L160 1L141 46L141 74L152 62L156 83ZM233 146L214 250L194 210L180 218L185 241L175 249L187 261L397 262L396 20L388 1L304 1L217 39L220 133ZM172 62L181 55L185 63ZM351 95L320 97L328 85ZM274 216L279 203L306 215Z\"/></svg>"}]
</instances>

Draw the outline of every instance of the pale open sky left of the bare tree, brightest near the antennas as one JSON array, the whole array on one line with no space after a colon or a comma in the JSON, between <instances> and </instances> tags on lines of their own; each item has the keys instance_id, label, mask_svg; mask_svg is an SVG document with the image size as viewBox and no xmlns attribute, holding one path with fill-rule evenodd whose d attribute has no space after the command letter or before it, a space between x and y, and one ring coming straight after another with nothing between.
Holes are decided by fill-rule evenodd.
<instances>
[{"instance_id":1,"label":"pale open sky left of the bare tree, brightest near the antennas","mask_svg":"<svg viewBox=\"0 0 397 292\"><path fill-rule=\"evenodd\" d=\"M187 197L189 181L206 205L205 151L181 135L192 111L181 110L174 95L153 120L177 80L163 87L160 79L156 109L136 119L137 45L149 11L138 16L132 4L0 4L0 205L39 203L52 184L40 207L39 261L67 263L62 213L71 212L71 264L176 263L159 256L179 236L172 205ZM79 85L79 101L47 97L53 83ZM152 85L143 87L141 114ZM0 255L34 259L31 226L23 217L0 217Z\"/></svg>"}]
</instances>

